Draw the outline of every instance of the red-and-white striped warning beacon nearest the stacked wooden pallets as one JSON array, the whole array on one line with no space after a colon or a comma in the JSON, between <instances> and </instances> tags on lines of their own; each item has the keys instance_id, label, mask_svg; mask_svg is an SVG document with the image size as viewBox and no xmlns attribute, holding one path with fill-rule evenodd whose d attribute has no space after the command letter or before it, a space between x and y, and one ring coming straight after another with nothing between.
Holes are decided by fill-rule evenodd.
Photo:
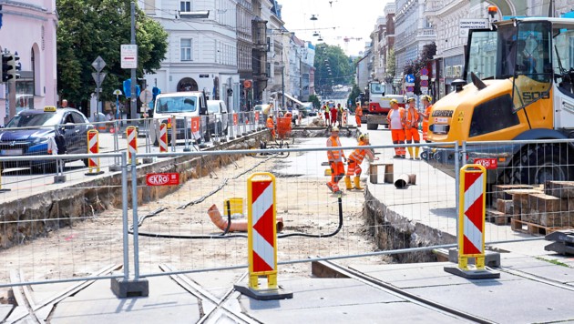
<instances>
[{"instance_id":1,"label":"red-and-white striped warning beacon nearest the stacked wooden pallets","mask_svg":"<svg viewBox=\"0 0 574 324\"><path fill-rule=\"evenodd\" d=\"M487 169L466 165L460 169L458 215L458 266L445 271L470 279L500 278L500 273L485 267L485 216ZM475 265L468 265L475 258Z\"/></svg>"}]
</instances>

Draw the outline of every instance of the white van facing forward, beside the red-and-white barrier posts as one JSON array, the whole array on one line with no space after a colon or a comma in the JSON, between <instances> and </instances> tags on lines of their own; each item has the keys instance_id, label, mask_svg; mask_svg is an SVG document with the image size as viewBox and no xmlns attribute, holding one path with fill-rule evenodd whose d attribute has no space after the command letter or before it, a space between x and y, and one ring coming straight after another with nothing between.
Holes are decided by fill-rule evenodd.
<instances>
[{"instance_id":1,"label":"white van facing forward, beside the red-and-white barrier posts","mask_svg":"<svg viewBox=\"0 0 574 324\"><path fill-rule=\"evenodd\" d=\"M176 92L172 94L159 94L153 105L150 117L153 122L149 125L149 139L158 146L159 126L161 123L168 124L168 119L175 116L177 138L185 138L185 130L188 130L188 138L198 143L203 140L210 141L210 131L206 127L207 120L201 118L200 131L191 132L191 117L207 115L207 100L200 91ZM184 125L184 117L187 117L188 125ZM173 121L172 121L173 122ZM171 131L168 127L168 142L171 142Z\"/></svg>"}]
</instances>

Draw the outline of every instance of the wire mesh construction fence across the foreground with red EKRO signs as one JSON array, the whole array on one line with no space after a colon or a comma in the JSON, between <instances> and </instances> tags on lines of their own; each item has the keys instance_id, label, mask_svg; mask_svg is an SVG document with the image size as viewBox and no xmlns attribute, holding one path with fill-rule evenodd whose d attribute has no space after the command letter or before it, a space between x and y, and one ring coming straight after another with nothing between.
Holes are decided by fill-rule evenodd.
<instances>
[{"instance_id":1,"label":"wire mesh construction fence across the foreground with red EKRO signs","mask_svg":"<svg viewBox=\"0 0 574 324\"><path fill-rule=\"evenodd\" d=\"M231 128L226 137L239 134L243 129L257 128L252 115L245 115L246 123L241 128L232 124L234 116L228 114L228 118ZM247 122L248 118L253 118L253 122ZM187 125L185 121L186 130ZM261 118L257 125L264 125ZM218 128L213 129L217 131ZM355 148L365 148L356 147L353 137L342 137L341 141L347 157ZM0 286L14 285L9 279L10 270L14 268L22 269L26 273L25 281L33 283L93 278L92 274L103 264L123 264L123 278L244 268L247 263L246 235L230 231L228 224L231 219L231 225L240 229L244 226L246 178L253 172L272 172L277 177L277 216L282 221L279 259L281 264L288 265L286 271L309 262L309 257L313 256L321 256L320 259L365 258L367 262L380 263L386 260L387 254L412 256L430 248L452 247L457 235L459 187L457 177L449 174L456 175L462 162L474 163L476 157L486 158L492 152L499 154L507 145L518 144L404 146L422 147L425 158L436 163L395 159L395 146L372 146L369 148L378 159L370 164L371 167L363 164L360 182L368 187L368 192L347 190L343 177L339 182L343 188L339 203L339 197L325 186L331 180L331 169L324 142L323 137L302 138L296 143L315 148L191 150L163 154L138 151L131 164L125 152L99 154L97 157L103 166L111 166L119 159L121 172L118 177L86 182L79 172L76 175L74 169L67 169L66 176L71 177L67 185L54 184L40 175L3 175L3 185L9 177L14 177L9 182L11 186L26 186L28 193L25 195L24 191L17 190L15 197L0 196L5 207L14 204L14 208L5 208L0 219L1 242L5 248L0 257L5 265L0 268ZM530 141L528 145L555 147L567 142ZM451 147L450 151L444 151L448 147ZM556 149L542 150L544 153ZM565 154L569 154L569 150ZM548 167L544 162L547 158L542 156L543 163L509 168L501 165L495 172L513 171L513 167ZM81 160L88 157L93 156L0 157L0 162L28 159L54 163L62 158ZM552 158L559 162L557 168L569 172L571 160L567 157L564 159L559 154ZM138 160L145 158L157 161L173 158L162 167L162 173L168 179L177 175L179 185L150 186L146 177L150 168L137 167ZM443 165L437 167L438 162ZM355 175L350 175L351 179ZM544 188L525 183L514 185L530 186L528 190L533 192L524 192L527 195L524 198L518 197L523 192L508 192L515 187L497 185L489 188L487 194L496 198L496 204L505 200L500 204L506 208L509 201L512 202L514 211L505 214L507 218L517 220L513 221L512 227L488 223L487 242L531 239L530 234L538 234L529 232L528 226L535 224L534 219L546 219L546 225L550 220L555 221L551 228L572 226L567 188L548 184ZM50 186L57 190L46 192L46 187ZM515 197L518 197L516 201ZM73 201L68 202L70 199ZM548 200L553 202L548 203ZM528 205L525 205L526 201ZM104 205L106 203L109 206ZM30 208L26 204L30 204ZM518 209L517 204L520 204ZM541 206L546 209L541 210ZM556 209L550 210L548 206ZM24 212L10 214L10 210ZM550 227L546 228L550 230ZM527 233L522 233L521 229ZM128 247L130 243L132 248ZM414 257L402 259L409 258ZM159 264L169 264L173 271L164 272Z\"/></svg>"}]
</instances>

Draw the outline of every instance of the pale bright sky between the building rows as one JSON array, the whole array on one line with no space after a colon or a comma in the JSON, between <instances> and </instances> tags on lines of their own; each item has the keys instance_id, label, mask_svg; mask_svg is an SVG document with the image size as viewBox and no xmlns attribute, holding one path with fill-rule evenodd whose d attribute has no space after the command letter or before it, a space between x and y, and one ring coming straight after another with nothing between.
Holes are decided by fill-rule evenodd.
<instances>
[{"instance_id":1,"label":"pale bright sky between the building rows","mask_svg":"<svg viewBox=\"0 0 574 324\"><path fill-rule=\"evenodd\" d=\"M323 42L338 45L347 55L358 56L374 30L376 19L384 15L385 0L279 0L285 27L302 40L317 44L313 32ZM333 3L333 4L330 4ZM316 21L311 17L315 15ZM344 37L350 40L345 44ZM360 40L354 38L361 38Z\"/></svg>"}]
</instances>

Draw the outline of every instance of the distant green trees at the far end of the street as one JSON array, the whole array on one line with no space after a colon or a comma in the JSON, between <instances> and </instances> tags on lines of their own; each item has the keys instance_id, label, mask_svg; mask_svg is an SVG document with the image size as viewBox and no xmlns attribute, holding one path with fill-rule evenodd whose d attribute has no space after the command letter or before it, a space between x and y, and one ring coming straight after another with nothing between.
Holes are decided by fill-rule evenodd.
<instances>
[{"instance_id":1,"label":"distant green trees at the far end of the street","mask_svg":"<svg viewBox=\"0 0 574 324\"><path fill-rule=\"evenodd\" d=\"M329 73L331 67L331 74ZM354 78L354 66L339 46L319 44L315 47L315 89L322 95L329 95L331 87L349 85Z\"/></svg>"}]
</instances>

